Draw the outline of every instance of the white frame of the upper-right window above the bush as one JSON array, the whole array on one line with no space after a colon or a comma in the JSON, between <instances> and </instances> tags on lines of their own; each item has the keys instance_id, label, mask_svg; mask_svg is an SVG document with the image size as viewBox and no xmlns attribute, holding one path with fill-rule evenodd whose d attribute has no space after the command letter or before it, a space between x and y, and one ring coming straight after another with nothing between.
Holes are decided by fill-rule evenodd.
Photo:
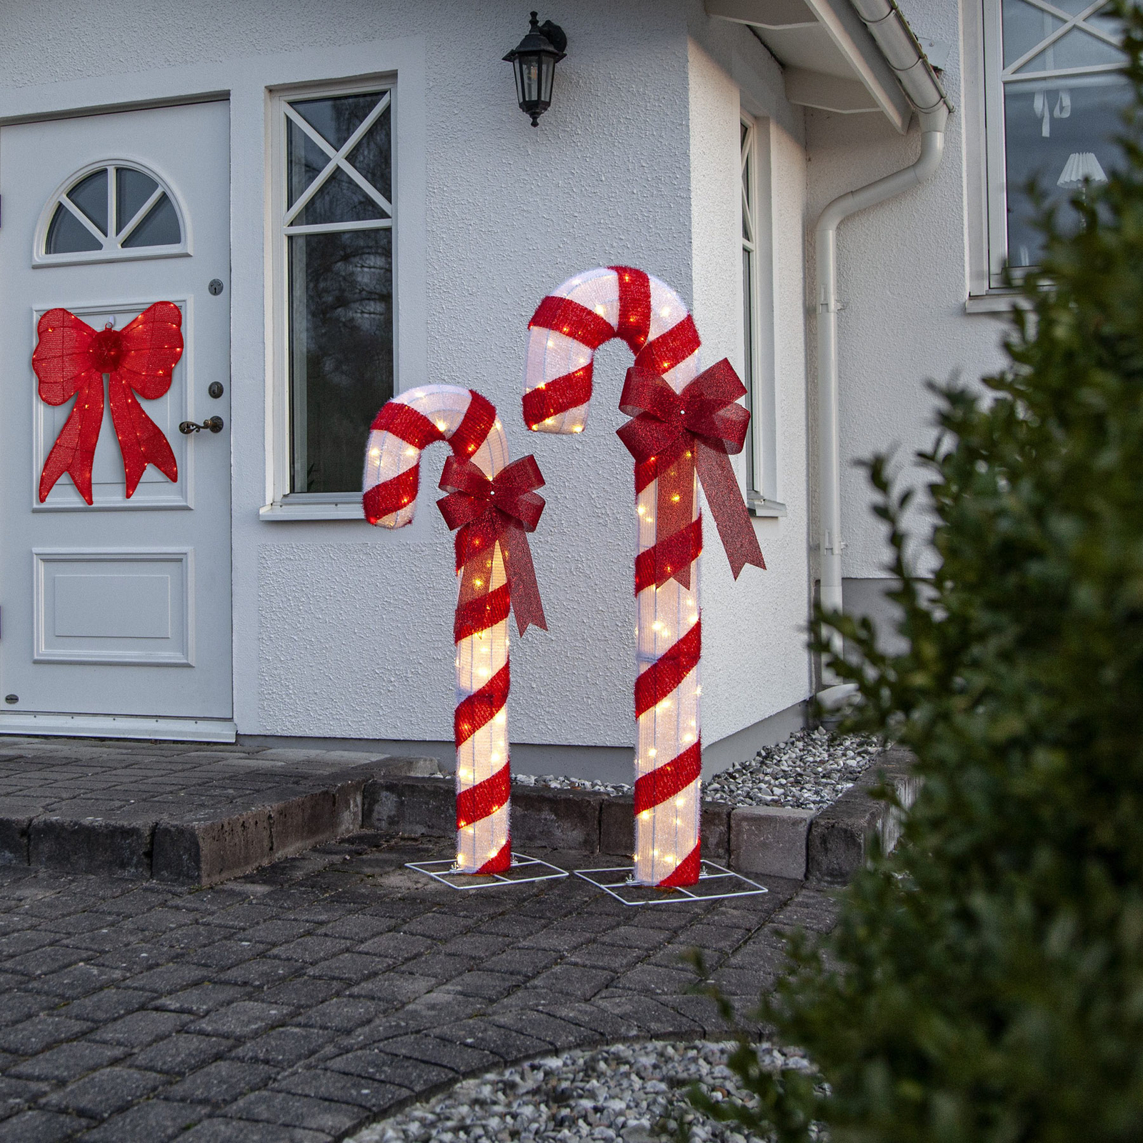
<instances>
[{"instance_id":1,"label":"white frame of the upper-right window above the bush","mask_svg":"<svg viewBox=\"0 0 1143 1143\"><path fill-rule=\"evenodd\" d=\"M1041 0L1033 0L1038 6ZM1103 7L1093 0L1079 15L1056 9L1042 0L1052 15L1065 21L1053 34L1058 39L1076 23ZM1105 39L1105 37L1100 37ZM1001 0L972 0L965 5L964 25L964 122L966 143L966 190L968 195L968 312L1008 309L1012 291L1004 286L1001 270L1008 255L1008 187L1005 159L1004 42ZM1012 66L1042 50L1042 43ZM1117 64L1060 69L1029 75L1030 83L1068 75L1114 72ZM1022 82L1024 80L1022 79ZM1014 270L1018 279L1021 271Z\"/></svg>"}]
</instances>

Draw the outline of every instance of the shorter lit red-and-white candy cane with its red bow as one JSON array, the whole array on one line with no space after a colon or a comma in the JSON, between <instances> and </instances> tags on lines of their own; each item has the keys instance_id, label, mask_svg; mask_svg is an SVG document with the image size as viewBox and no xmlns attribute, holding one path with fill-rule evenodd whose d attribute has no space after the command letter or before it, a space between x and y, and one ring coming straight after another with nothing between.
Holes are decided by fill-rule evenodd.
<instances>
[{"instance_id":1,"label":"shorter lit red-and-white candy cane with its red bow","mask_svg":"<svg viewBox=\"0 0 1143 1143\"><path fill-rule=\"evenodd\" d=\"M409 523L421 454L447 441L439 501L456 539L456 871L497 873L512 861L509 768L509 608L520 633L544 628L525 530L539 519L543 485L535 461L507 463L495 407L454 385L401 393L377 414L365 464L366 519L386 528Z\"/></svg>"}]
</instances>

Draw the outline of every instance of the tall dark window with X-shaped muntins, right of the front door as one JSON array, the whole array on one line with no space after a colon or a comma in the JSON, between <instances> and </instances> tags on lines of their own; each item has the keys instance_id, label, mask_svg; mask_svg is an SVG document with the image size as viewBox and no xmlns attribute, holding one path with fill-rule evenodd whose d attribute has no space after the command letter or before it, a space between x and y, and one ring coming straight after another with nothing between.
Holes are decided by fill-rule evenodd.
<instances>
[{"instance_id":1,"label":"tall dark window with X-shaped muntins, right of the front door","mask_svg":"<svg viewBox=\"0 0 1143 1143\"><path fill-rule=\"evenodd\" d=\"M274 113L281 491L344 498L393 395L392 90L278 96Z\"/></svg>"}]
</instances>

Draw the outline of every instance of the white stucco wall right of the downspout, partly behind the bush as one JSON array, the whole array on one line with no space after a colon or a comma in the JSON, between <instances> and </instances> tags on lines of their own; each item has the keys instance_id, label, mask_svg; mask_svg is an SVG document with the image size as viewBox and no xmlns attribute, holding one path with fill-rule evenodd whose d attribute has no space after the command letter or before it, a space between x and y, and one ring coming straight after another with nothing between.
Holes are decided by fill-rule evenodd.
<instances>
[{"instance_id":1,"label":"white stucco wall right of the downspout, partly behind the bush","mask_svg":"<svg viewBox=\"0 0 1143 1143\"><path fill-rule=\"evenodd\" d=\"M972 0L968 0L972 2ZM951 45L942 73L953 105L961 104L959 11L949 0L903 0L913 30ZM916 161L920 136L894 131L880 114L806 117L809 155L809 273L813 224L838 194ZM845 577L886 574L884 527L869 509L866 475L854 462L896 450L908 466L934 439L929 378L980 378L1001 363L1002 325L966 314L967 227L962 115L949 120L945 154L924 186L853 215L838 229L838 318L841 422L841 510ZM812 322L813 333L813 322ZM918 473L903 473L917 480ZM917 512L911 529L927 535ZM817 535L815 527L815 537ZM928 566L924 551L917 566Z\"/></svg>"}]
</instances>

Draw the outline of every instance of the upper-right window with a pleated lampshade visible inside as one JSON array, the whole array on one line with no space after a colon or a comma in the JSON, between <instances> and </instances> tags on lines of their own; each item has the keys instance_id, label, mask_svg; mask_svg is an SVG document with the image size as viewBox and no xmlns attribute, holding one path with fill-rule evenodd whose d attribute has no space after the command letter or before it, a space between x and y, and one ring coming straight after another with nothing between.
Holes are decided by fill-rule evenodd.
<instances>
[{"instance_id":1,"label":"upper-right window with a pleated lampshade visible inside","mask_svg":"<svg viewBox=\"0 0 1143 1143\"><path fill-rule=\"evenodd\" d=\"M1076 223L1070 200L1106 181L1130 86L1105 0L984 0L989 281L1038 264L1034 183Z\"/></svg>"}]
</instances>

